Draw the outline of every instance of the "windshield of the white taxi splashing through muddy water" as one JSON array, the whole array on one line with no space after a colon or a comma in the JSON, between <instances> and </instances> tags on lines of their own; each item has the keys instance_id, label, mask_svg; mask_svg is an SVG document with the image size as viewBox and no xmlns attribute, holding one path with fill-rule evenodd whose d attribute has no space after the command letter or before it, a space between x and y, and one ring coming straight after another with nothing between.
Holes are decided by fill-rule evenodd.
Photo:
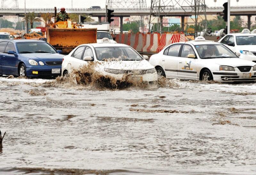
<instances>
[{"instance_id":1,"label":"windshield of the white taxi splashing through muddy water","mask_svg":"<svg viewBox=\"0 0 256 175\"><path fill-rule=\"evenodd\" d=\"M95 47L98 60L140 61L143 58L130 47Z\"/></svg>"}]
</instances>

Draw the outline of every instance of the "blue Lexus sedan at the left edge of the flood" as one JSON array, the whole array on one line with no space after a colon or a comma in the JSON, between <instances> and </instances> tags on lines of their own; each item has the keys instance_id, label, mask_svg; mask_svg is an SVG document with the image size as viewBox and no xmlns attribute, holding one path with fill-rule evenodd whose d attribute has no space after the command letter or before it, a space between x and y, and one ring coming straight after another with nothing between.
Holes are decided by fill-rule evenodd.
<instances>
[{"instance_id":1,"label":"blue Lexus sedan at the left edge of the flood","mask_svg":"<svg viewBox=\"0 0 256 175\"><path fill-rule=\"evenodd\" d=\"M61 76L63 55L39 40L0 40L0 75Z\"/></svg>"}]
</instances>

